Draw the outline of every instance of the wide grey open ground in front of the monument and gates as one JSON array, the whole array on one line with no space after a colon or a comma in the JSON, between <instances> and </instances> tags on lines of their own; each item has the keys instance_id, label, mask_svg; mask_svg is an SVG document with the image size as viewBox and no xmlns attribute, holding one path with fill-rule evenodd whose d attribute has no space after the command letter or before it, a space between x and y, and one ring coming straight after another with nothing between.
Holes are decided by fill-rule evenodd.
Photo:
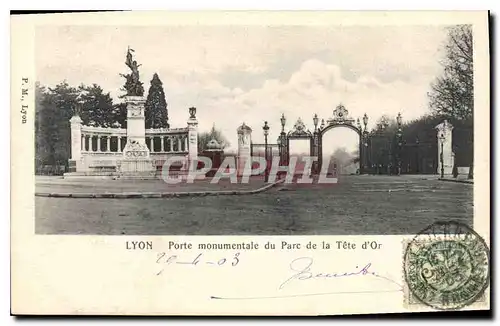
<instances>
[{"instance_id":1,"label":"wide grey open ground in front of the monument and gates","mask_svg":"<svg viewBox=\"0 0 500 326\"><path fill-rule=\"evenodd\" d=\"M40 182L37 191L60 187ZM438 220L472 225L472 190L434 178L346 176L334 185L286 185L244 196L35 197L35 228L38 234L411 234Z\"/></svg>"}]
</instances>

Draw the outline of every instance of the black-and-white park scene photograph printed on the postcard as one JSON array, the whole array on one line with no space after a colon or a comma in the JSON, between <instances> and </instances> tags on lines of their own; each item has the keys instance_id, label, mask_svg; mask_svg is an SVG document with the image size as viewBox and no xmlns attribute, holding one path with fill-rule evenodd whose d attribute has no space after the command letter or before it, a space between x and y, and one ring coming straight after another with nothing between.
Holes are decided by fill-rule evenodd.
<instances>
[{"instance_id":1,"label":"black-and-white park scene photograph printed on the postcard","mask_svg":"<svg viewBox=\"0 0 500 326\"><path fill-rule=\"evenodd\" d=\"M39 235L473 227L471 25L38 25Z\"/></svg>"}]
</instances>

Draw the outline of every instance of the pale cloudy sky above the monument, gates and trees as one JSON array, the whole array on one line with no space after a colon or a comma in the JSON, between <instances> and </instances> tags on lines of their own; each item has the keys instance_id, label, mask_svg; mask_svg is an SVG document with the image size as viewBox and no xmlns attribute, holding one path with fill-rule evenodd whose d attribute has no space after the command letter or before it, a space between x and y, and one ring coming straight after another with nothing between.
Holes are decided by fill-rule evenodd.
<instances>
[{"instance_id":1,"label":"pale cloudy sky above the monument, gates and trees","mask_svg":"<svg viewBox=\"0 0 500 326\"><path fill-rule=\"evenodd\" d=\"M100 85L115 101L128 73L127 47L141 64L146 90L158 73L171 127L185 127L197 108L199 131L215 124L237 148L236 128L253 129L270 142L280 117L290 130L300 117L311 130L316 113L325 121L342 103L353 118L412 120L429 112L427 92L441 73L446 27L433 26L39 26L36 75L45 86ZM323 148L357 148L356 134L334 128ZM304 145L305 146L305 145ZM297 152L308 151L302 145Z\"/></svg>"}]
</instances>

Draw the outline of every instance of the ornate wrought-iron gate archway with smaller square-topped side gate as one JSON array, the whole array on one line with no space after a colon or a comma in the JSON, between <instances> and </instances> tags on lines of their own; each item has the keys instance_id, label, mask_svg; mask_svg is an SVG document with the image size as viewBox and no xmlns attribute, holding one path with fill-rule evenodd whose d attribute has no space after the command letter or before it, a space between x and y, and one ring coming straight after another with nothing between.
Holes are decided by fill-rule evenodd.
<instances>
[{"instance_id":1,"label":"ornate wrought-iron gate archway with smaller square-topped side gate","mask_svg":"<svg viewBox=\"0 0 500 326\"><path fill-rule=\"evenodd\" d=\"M290 140L292 139L309 139L310 140L310 155L317 157L317 160L313 164L312 173L318 174L321 171L323 164L323 136L330 129L337 127L347 127L354 130L359 137L359 172L363 174L367 170L367 136L368 132L366 130L366 125L368 124L368 116L366 113L363 116L363 126L359 118L354 120L349 116L349 112L344 107L344 105L339 104L335 110L333 110L333 116L325 120L321 120L321 125L318 127L318 116L315 114L313 117L314 131L309 131L301 118L297 120L293 129L285 133L285 123L286 118L284 115L281 116L281 134L279 137L280 144L280 165L288 165L290 161Z\"/></svg>"}]
</instances>

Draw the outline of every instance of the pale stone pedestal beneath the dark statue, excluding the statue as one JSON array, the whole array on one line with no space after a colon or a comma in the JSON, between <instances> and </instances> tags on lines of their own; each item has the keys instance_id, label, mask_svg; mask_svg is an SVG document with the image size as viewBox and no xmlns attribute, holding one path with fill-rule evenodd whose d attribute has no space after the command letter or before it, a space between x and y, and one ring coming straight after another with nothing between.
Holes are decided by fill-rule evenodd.
<instances>
[{"instance_id":1,"label":"pale stone pedestal beneath the dark statue, excluding the statue","mask_svg":"<svg viewBox=\"0 0 500 326\"><path fill-rule=\"evenodd\" d=\"M127 175L154 174L155 166L146 145L144 118L145 98L127 96L127 143L123 149L123 159L118 164L118 171Z\"/></svg>"}]
</instances>

